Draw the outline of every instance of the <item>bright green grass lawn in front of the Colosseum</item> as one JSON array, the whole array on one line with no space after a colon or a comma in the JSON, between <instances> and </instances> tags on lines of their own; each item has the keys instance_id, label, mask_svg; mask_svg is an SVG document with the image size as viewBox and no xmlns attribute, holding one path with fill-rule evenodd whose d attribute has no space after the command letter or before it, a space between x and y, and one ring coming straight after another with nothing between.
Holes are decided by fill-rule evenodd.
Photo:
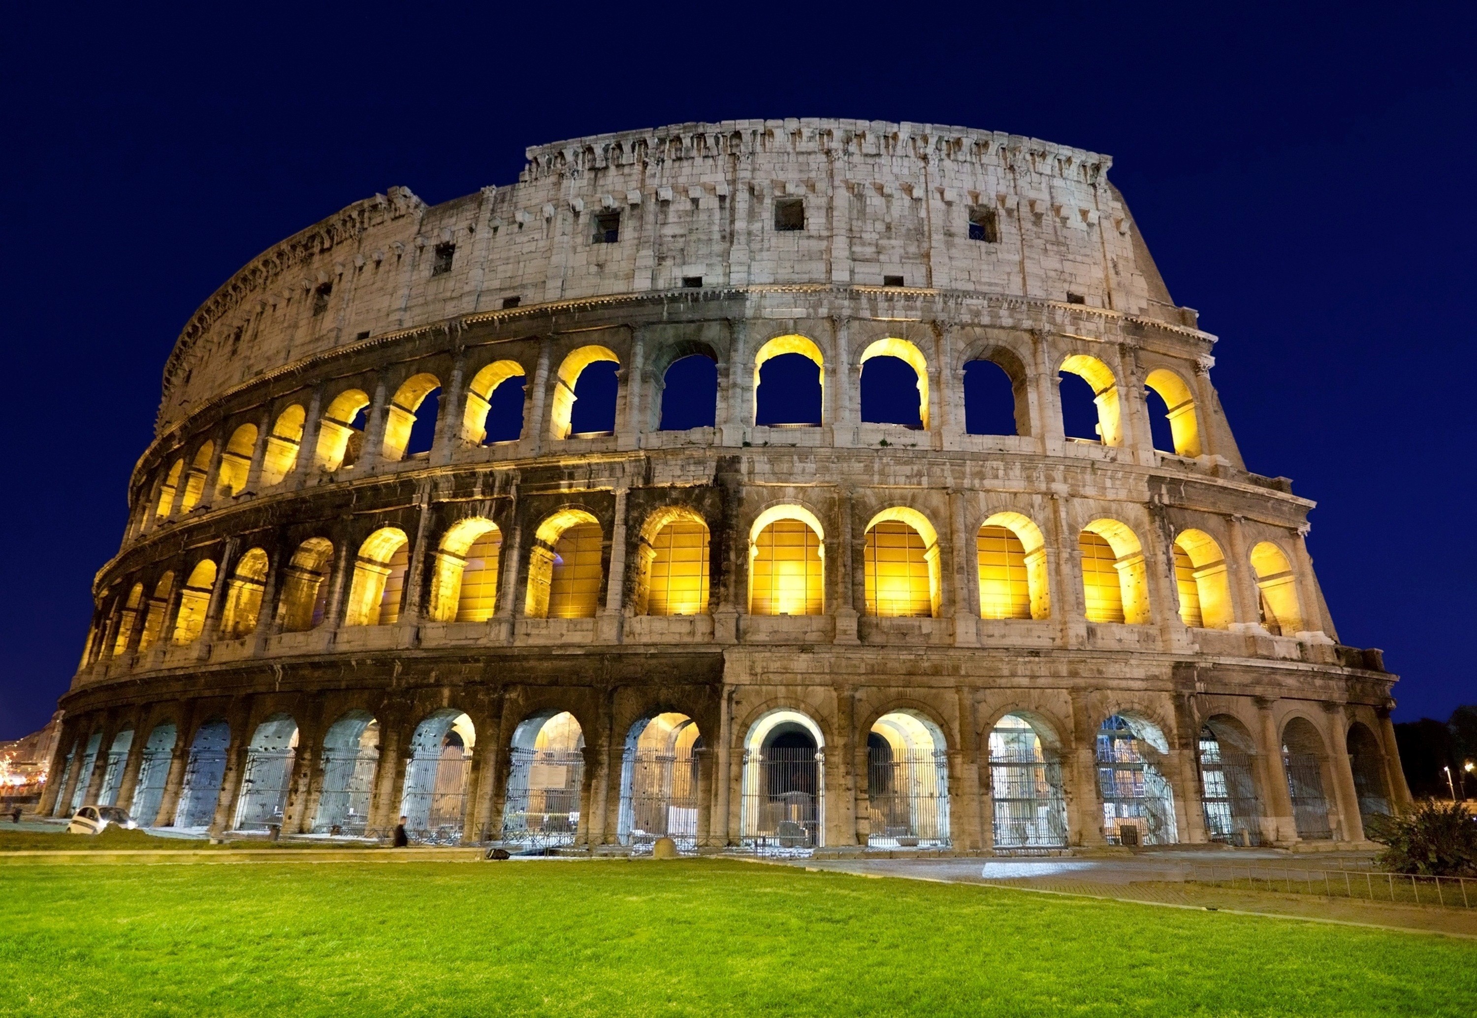
<instances>
[{"instance_id":1,"label":"bright green grass lawn in front of the Colosseum","mask_svg":"<svg viewBox=\"0 0 1477 1018\"><path fill-rule=\"evenodd\" d=\"M1474 1011L1474 941L738 861L0 867L6 1015Z\"/></svg>"}]
</instances>

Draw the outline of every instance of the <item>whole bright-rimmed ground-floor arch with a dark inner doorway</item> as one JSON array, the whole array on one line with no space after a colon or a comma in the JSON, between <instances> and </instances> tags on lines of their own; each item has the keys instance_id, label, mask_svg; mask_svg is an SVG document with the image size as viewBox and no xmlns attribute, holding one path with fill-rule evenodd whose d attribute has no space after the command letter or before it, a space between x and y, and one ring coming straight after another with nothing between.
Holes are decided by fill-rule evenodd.
<instances>
[{"instance_id":1,"label":"whole bright-rimmed ground-floor arch with a dark inner doorway","mask_svg":"<svg viewBox=\"0 0 1477 1018\"><path fill-rule=\"evenodd\" d=\"M744 737L740 832L761 853L806 853L824 844L826 740L799 711L770 711Z\"/></svg>"}]
</instances>

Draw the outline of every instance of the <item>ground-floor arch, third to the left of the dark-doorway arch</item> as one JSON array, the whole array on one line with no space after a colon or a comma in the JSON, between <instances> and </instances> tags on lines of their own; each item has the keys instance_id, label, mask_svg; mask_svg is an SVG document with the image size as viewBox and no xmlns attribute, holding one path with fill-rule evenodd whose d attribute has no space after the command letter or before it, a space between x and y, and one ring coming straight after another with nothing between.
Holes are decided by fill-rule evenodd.
<instances>
[{"instance_id":1,"label":"ground-floor arch, third to the left of the dark-doorway arch","mask_svg":"<svg viewBox=\"0 0 1477 1018\"><path fill-rule=\"evenodd\" d=\"M442 708L415 727L400 796L400 816L414 841L455 845L462 839L476 746L477 730L456 708Z\"/></svg>"}]
</instances>

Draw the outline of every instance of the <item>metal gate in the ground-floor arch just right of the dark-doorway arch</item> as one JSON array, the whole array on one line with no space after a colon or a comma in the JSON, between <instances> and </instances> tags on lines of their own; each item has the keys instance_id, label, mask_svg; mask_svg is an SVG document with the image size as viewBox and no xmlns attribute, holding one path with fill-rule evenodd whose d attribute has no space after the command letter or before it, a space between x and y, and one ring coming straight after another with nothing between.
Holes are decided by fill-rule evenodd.
<instances>
[{"instance_id":1,"label":"metal gate in the ground-floor arch just right of the dark-doorway arch","mask_svg":"<svg viewBox=\"0 0 1477 1018\"><path fill-rule=\"evenodd\" d=\"M948 847L948 754L867 751L867 844L876 848Z\"/></svg>"}]
</instances>

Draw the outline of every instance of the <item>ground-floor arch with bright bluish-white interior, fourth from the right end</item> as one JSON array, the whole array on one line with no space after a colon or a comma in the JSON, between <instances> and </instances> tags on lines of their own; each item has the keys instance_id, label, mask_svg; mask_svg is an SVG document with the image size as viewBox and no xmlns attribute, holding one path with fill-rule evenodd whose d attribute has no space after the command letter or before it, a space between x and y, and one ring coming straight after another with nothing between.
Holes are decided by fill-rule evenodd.
<instances>
[{"instance_id":1,"label":"ground-floor arch with bright bluish-white interior, fourth from the right end","mask_svg":"<svg viewBox=\"0 0 1477 1018\"><path fill-rule=\"evenodd\" d=\"M1174 790L1162 764L1170 743L1154 722L1109 715L1097 730L1103 836L1114 845L1173 845Z\"/></svg>"}]
</instances>

